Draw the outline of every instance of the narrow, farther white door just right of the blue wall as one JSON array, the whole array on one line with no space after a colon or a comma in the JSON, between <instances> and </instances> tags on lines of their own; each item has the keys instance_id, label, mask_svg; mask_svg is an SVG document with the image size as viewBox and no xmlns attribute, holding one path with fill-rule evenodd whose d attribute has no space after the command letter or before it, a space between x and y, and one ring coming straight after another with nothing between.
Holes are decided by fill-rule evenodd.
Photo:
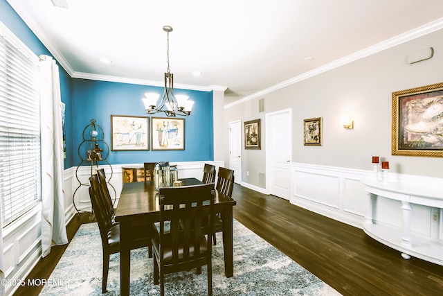
<instances>
[{"instance_id":1,"label":"narrow, farther white door just right of the blue wall","mask_svg":"<svg viewBox=\"0 0 443 296\"><path fill-rule=\"evenodd\" d=\"M234 170L234 182L242 182L242 123L229 123L229 168Z\"/></svg>"}]
</instances>

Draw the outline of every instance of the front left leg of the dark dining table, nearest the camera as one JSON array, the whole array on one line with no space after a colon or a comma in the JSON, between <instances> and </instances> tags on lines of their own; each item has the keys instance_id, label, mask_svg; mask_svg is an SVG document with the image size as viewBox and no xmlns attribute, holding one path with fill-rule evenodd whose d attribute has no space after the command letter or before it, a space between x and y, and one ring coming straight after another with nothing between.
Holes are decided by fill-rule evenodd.
<instances>
[{"instance_id":1,"label":"front left leg of the dark dining table, nearest the camera","mask_svg":"<svg viewBox=\"0 0 443 296\"><path fill-rule=\"evenodd\" d=\"M131 270L130 224L120 222L120 295L129 295L129 272Z\"/></svg>"}]
</instances>

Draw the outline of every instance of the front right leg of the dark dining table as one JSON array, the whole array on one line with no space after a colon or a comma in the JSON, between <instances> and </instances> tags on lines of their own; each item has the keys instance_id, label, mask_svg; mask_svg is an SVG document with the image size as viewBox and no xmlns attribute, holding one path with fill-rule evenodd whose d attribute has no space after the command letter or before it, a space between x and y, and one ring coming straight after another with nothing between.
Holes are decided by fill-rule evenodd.
<instances>
[{"instance_id":1,"label":"front right leg of the dark dining table","mask_svg":"<svg viewBox=\"0 0 443 296\"><path fill-rule=\"evenodd\" d=\"M224 274L226 277L233 277L233 207L224 209L221 220L223 221Z\"/></svg>"}]
</instances>

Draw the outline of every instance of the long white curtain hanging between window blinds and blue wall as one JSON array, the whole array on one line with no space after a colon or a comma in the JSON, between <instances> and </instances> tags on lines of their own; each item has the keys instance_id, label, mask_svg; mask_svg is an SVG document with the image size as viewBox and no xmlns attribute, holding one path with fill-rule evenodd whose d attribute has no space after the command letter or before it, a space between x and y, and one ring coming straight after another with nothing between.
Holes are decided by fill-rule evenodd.
<instances>
[{"instance_id":1,"label":"long white curtain hanging between window blinds and blue wall","mask_svg":"<svg viewBox=\"0 0 443 296\"><path fill-rule=\"evenodd\" d=\"M42 83L42 256L68 243L64 219L64 164L60 76L53 58L40 55Z\"/></svg>"}]
</instances>

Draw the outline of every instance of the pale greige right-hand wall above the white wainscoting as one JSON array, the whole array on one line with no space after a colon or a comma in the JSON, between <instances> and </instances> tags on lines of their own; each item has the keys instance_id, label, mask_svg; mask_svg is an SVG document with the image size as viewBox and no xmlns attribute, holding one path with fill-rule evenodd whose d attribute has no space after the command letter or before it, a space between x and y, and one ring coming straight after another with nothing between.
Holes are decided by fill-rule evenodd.
<instances>
[{"instance_id":1,"label":"pale greige right-hand wall above the white wainscoting","mask_svg":"<svg viewBox=\"0 0 443 296\"><path fill-rule=\"evenodd\" d=\"M426 47L434 49L431 60L406 62L408 53ZM370 170L372 155L378 155L390 162L394 173L442 177L441 157L391 155L392 92L443 82L442 64L443 30L440 30L260 98L265 99L266 113L292 108L293 162ZM226 126L230 121L261 118L263 142L266 122L264 114L255 107L257 100L227 107L224 120ZM354 119L353 130L343 129L343 114ZM323 146L303 146L303 120L314 117L323 117ZM260 153L242 150L242 158L242 171L257 174L265 164L264 145ZM227 154L224 159L226 162ZM255 180L244 177L244 182L258 186Z\"/></svg>"}]
</instances>

